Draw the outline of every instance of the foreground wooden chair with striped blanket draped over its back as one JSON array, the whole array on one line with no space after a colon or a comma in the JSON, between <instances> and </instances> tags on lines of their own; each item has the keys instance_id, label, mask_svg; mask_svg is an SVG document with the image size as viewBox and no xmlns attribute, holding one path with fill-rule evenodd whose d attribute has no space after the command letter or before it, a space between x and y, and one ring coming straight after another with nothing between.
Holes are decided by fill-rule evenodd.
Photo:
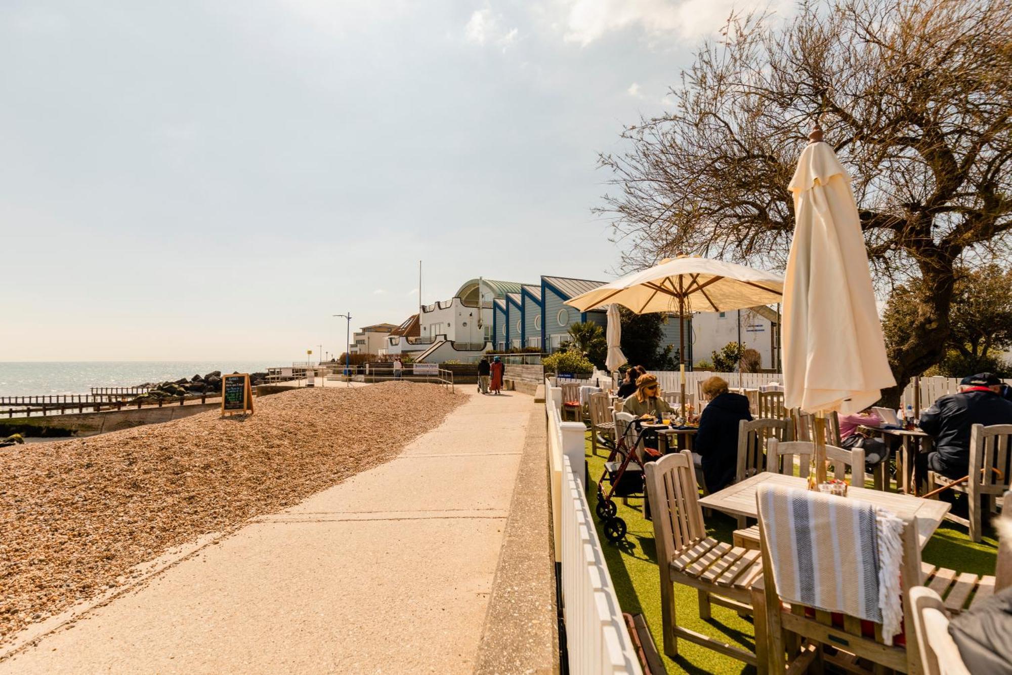
<instances>
[{"instance_id":1,"label":"foreground wooden chair with striped blanket draped over its back","mask_svg":"<svg viewBox=\"0 0 1012 675\"><path fill-rule=\"evenodd\" d=\"M758 496L757 496L758 499ZM760 541L766 540L765 523L759 519ZM911 584L909 580L918 577L921 566L921 551L917 543L917 527L908 520L903 531L903 560L900 564L900 588L907 598ZM865 672L857 667L857 659L876 664L874 672L882 672L882 667L900 673L921 673L920 655L917 641L909 635L906 645L894 643L887 646L882 640L881 624L874 623L873 635L864 629L864 621L857 616L842 615L842 621L834 621L833 614L841 614L838 608L833 612L800 604L791 604L780 598L774 579L773 565L764 543L761 543L763 565L762 585L766 595L766 631L769 643L769 672L771 674L804 673L812 664L816 672L823 672L821 666L830 663L847 672ZM852 547L843 551L853 552ZM856 553L855 553L856 554ZM797 561L795 560L795 564ZM795 568L799 569L799 568ZM845 574L841 568L840 574ZM856 583L853 579L843 579L844 588ZM904 625L912 626L911 603L904 602ZM899 642L899 641L898 641ZM834 648L823 651L822 646ZM786 661L784 654L786 653Z\"/></svg>"}]
</instances>

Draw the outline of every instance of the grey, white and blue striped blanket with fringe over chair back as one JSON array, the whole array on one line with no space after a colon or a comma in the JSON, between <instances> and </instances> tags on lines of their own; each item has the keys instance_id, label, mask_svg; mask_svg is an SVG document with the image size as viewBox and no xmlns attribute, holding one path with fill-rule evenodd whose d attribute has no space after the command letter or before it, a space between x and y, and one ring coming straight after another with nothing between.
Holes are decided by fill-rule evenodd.
<instances>
[{"instance_id":1,"label":"grey, white and blue striped blanket with fringe over chair back","mask_svg":"<svg viewBox=\"0 0 1012 675\"><path fill-rule=\"evenodd\" d=\"M881 623L892 645L903 619L903 520L808 490L760 485L756 501L780 597Z\"/></svg>"}]
</instances>

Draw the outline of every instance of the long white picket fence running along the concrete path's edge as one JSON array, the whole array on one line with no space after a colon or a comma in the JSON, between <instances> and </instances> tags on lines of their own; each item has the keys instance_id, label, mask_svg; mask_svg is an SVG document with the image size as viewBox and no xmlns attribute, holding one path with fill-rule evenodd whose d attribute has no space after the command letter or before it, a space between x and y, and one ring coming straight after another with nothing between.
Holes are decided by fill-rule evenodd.
<instances>
[{"instance_id":1,"label":"long white picket fence running along the concrete path's edge","mask_svg":"<svg viewBox=\"0 0 1012 675\"><path fill-rule=\"evenodd\" d=\"M584 494L585 427L562 421L562 389L545 382L545 391L550 392L544 409L569 672L642 675Z\"/></svg>"}]
</instances>

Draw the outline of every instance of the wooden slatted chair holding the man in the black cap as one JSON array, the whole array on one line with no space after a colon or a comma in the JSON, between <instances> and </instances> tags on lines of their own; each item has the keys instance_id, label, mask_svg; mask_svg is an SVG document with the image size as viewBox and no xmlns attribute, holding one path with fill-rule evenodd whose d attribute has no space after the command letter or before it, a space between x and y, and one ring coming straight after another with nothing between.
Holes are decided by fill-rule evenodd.
<instances>
[{"instance_id":1,"label":"wooden slatted chair holding the man in the black cap","mask_svg":"<svg viewBox=\"0 0 1012 675\"><path fill-rule=\"evenodd\" d=\"M994 512L995 498L1012 486L1009 477L1009 437L1012 436L1012 425L974 425L969 432L969 480L957 484L952 478L940 473L928 471L928 491L942 485L951 485L954 490L966 495L969 506L969 518L961 518L951 513L945 518L969 528L969 538L981 540L981 512L987 509ZM992 469L1001 471L1001 477ZM985 505L982 505L982 500Z\"/></svg>"}]
</instances>

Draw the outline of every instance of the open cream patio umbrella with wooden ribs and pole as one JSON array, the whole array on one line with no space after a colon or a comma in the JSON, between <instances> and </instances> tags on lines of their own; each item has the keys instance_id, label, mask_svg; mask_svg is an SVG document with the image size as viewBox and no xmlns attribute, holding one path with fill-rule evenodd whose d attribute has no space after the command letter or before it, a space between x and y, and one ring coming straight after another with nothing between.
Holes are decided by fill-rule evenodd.
<instances>
[{"instance_id":1,"label":"open cream patio umbrella with wooden ribs and pole","mask_svg":"<svg viewBox=\"0 0 1012 675\"><path fill-rule=\"evenodd\" d=\"M780 301L783 278L762 270L705 257L665 258L653 268L578 295L566 304L585 312L612 303L637 314L648 312L728 311ZM678 360L685 400L685 333L679 330Z\"/></svg>"}]
</instances>

